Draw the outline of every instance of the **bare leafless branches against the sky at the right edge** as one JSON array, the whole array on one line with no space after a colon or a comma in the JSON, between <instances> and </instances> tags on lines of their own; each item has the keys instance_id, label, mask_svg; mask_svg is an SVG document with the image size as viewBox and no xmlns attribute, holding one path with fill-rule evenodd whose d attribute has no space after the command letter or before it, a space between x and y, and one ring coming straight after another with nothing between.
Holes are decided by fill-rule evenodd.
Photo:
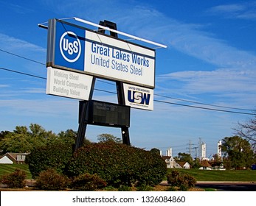
<instances>
[{"instance_id":1,"label":"bare leafless branches against the sky at the right edge","mask_svg":"<svg viewBox=\"0 0 256 206\"><path fill-rule=\"evenodd\" d=\"M234 129L236 135L246 138L251 143L252 148L256 151L256 115L245 123L238 122L238 127Z\"/></svg>"}]
</instances>

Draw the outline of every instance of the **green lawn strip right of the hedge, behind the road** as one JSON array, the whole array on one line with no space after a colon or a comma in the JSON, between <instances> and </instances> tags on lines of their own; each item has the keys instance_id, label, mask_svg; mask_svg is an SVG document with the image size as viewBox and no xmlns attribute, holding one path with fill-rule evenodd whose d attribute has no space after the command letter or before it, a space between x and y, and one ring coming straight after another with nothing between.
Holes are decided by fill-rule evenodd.
<instances>
[{"instance_id":1,"label":"green lawn strip right of the hedge, behind the road","mask_svg":"<svg viewBox=\"0 0 256 206\"><path fill-rule=\"evenodd\" d=\"M172 169L168 168L170 173ZM198 170L198 169L178 169L180 172L186 172L196 178L197 181L241 181L256 182L255 170Z\"/></svg>"}]
</instances>

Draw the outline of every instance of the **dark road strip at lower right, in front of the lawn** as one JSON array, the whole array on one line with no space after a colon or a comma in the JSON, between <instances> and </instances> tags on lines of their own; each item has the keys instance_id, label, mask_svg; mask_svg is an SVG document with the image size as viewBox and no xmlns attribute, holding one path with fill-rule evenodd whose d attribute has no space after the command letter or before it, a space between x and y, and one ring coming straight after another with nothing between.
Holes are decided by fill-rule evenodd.
<instances>
[{"instance_id":1,"label":"dark road strip at lower right, in front of the lawn","mask_svg":"<svg viewBox=\"0 0 256 206\"><path fill-rule=\"evenodd\" d=\"M197 188L214 188L217 191L256 191L256 182L200 182Z\"/></svg>"}]
</instances>

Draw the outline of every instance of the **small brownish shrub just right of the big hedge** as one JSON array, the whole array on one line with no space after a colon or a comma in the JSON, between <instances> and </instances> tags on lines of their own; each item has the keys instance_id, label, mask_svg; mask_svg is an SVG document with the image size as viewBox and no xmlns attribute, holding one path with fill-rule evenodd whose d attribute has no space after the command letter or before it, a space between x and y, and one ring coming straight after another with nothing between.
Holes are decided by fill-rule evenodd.
<instances>
[{"instance_id":1,"label":"small brownish shrub just right of the big hedge","mask_svg":"<svg viewBox=\"0 0 256 206\"><path fill-rule=\"evenodd\" d=\"M196 179L190 174L181 174L179 171L173 170L170 174L167 174L167 182L172 187L178 187L181 191L187 191L188 188L195 186Z\"/></svg>"}]
</instances>

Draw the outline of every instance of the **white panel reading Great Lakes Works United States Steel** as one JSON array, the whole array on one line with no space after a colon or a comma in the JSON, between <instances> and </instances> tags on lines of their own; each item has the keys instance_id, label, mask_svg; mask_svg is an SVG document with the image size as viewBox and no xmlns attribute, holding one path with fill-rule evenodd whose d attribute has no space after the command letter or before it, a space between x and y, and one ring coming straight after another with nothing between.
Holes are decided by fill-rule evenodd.
<instances>
[{"instance_id":1,"label":"white panel reading Great Lakes Works United States Steel","mask_svg":"<svg viewBox=\"0 0 256 206\"><path fill-rule=\"evenodd\" d=\"M155 51L86 30L85 71L154 88Z\"/></svg>"}]
</instances>

